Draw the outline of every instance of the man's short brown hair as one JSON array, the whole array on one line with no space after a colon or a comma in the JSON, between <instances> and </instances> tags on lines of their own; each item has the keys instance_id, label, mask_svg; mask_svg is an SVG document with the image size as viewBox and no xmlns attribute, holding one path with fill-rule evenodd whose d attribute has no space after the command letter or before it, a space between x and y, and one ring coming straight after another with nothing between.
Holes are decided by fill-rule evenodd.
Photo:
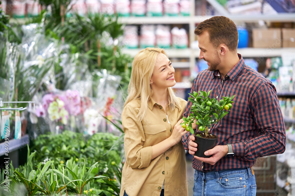
<instances>
[{"instance_id":1,"label":"man's short brown hair","mask_svg":"<svg viewBox=\"0 0 295 196\"><path fill-rule=\"evenodd\" d=\"M225 16L214 16L204 20L198 24L195 34L201 35L205 31L209 33L209 39L215 48L223 43L230 51L237 49L239 34L237 26L231 19Z\"/></svg>"}]
</instances>

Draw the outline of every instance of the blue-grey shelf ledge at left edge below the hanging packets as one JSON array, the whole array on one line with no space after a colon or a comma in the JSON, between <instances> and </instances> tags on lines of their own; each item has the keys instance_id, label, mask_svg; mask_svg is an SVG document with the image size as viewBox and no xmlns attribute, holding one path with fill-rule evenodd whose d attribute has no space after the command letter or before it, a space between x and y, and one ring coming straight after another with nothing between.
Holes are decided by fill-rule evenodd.
<instances>
[{"instance_id":1,"label":"blue-grey shelf ledge at left edge below the hanging packets","mask_svg":"<svg viewBox=\"0 0 295 196\"><path fill-rule=\"evenodd\" d=\"M8 154L13 152L14 150L17 150L17 149L27 145L30 142L28 134L23 135L22 138L20 138L19 140L11 139L11 140L6 140L6 141L8 141ZM2 142L2 143L0 143L0 156L4 155L5 151L6 151L5 143Z\"/></svg>"}]
</instances>

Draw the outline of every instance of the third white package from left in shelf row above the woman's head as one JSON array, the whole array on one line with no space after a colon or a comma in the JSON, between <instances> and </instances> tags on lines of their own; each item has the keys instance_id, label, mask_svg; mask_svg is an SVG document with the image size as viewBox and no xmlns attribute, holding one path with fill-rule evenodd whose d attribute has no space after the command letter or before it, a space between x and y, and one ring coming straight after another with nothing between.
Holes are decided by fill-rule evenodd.
<instances>
[{"instance_id":1,"label":"third white package from left in shelf row above the woman's head","mask_svg":"<svg viewBox=\"0 0 295 196\"><path fill-rule=\"evenodd\" d=\"M170 27L158 25L156 30L156 43L160 48L170 48L171 46L171 33Z\"/></svg>"}]
</instances>

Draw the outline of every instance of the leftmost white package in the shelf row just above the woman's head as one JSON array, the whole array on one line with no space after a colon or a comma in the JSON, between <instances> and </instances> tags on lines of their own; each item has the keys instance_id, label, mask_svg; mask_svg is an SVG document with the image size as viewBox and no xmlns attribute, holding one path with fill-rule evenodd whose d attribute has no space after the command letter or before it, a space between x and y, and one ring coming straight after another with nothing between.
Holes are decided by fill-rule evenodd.
<instances>
[{"instance_id":1,"label":"leftmost white package in the shelf row just above the woman's head","mask_svg":"<svg viewBox=\"0 0 295 196\"><path fill-rule=\"evenodd\" d=\"M125 26L124 28L124 39L122 43L126 48L138 48L138 33L137 26Z\"/></svg>"}]
</instances>

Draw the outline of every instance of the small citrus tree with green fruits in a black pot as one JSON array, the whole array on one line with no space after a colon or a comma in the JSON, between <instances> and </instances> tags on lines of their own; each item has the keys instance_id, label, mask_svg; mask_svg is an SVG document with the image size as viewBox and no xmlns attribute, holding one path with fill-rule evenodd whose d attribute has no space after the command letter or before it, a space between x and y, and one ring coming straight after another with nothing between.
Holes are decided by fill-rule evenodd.
<instances>
[{"instance_id":1,"label":"small citrus tree with green fruits in a black pot","mask_svg":"<svg viewBox=\"0 0 295 196\"><path fill-rule=\"evenodd\" d=\"M192 102L190 114L187 118L183 117L182 127L186 131L191 132L195 136L195 141L198 144L198 150L195 156L209 158L204 155L204 152L215 146L217 136L209 133L209 128L213 124L218 123L225 115L227 115L232 107L232 99L235 97L222 97L219 101L215 98L209 98L212 90L208 93L206 91L199 91L189 93L191 97L189 101ZM192 128L192 123L196 122L196 133Z\"/></svg>"}]
</instances>

